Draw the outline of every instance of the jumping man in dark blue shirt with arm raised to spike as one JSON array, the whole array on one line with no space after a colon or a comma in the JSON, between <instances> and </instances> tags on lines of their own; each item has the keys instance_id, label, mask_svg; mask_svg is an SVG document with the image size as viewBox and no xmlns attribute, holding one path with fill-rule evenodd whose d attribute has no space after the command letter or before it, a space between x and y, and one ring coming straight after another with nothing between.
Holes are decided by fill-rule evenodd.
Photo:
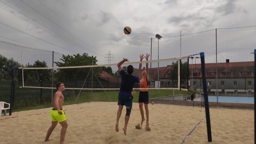
<instances>
[{"instance_id":1,"label":"jumping man in dark blue shirt with arm raised to spike","mask_svg":"<svg viewBox=\"0 0 256 144\"><path fill-rule=\"evenodd\" d=\"M122 64L124 62L129 62L127 58L124 58L122 61L120 61L117 66L118 66L118 70L120 71L120 75L122 78L121 81L121 85L120 85L120 90L119 90L119 94L118 94L118 111L117 111L117 116L116 116L116 132L119 131L118 128L118 121L119 118L122 114L122 109L124 106L126 106L126 115L124 118L124 134L126 135L126 129L127 129L127 125L128 125L128 121L130 118L130 114L131 114L131 109L132 109L132 88L136 83L143 85L144 82L144 76L146 74L146 72L142 72L142 79L140 80L138 78L138 76L134 76L132 75L133 73L133 66L129 65L127 67L127 73L123 70L122 68Z\"/></svg>"}]
</instances>

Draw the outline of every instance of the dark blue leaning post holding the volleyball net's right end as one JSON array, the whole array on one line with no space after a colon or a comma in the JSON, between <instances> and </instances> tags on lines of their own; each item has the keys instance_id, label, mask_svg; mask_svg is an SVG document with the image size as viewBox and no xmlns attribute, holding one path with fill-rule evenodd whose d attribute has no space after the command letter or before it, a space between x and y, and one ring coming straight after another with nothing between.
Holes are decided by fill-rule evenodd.
<instances>
[{"instance_id":1,"label":"dark blue leaning post holding the volleyball net's right end","mask_svg":"<svg viewBox=\"0 0 256 144\"><path fill-rule=\"evenodd\" d=\"M209 110L209 101L208 101L208 92L207 92L204 52L200 52L200 58L201 58L201 67L202 67L202 81L203 81L203 90L204 90L204 106L205 106L205 115L206 115L207 136L208 136L208 142L212 142L212 130L211 130L211 122L210 122L210 110Z\"/></svg>"}]
</instances>

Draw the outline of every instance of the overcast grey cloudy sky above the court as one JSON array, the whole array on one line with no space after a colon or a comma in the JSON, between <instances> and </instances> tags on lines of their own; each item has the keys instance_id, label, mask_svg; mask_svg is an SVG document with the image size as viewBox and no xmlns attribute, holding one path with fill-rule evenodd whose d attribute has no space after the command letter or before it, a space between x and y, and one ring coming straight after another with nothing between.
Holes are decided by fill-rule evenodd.
<instances>
[{"instance_id":1,"label":"overcast grey cloudy sky above the court","mask_svg":"<svg viewBox=\"0 0 256 144\"><path fill-rule=\"evenodd\" d=\"M150 53L156 34L254 26L255 6L256 0L0 0L0 40L61 54L85 52L98 64L123 57L135 62Z\"/></svg>"}]
</instances>

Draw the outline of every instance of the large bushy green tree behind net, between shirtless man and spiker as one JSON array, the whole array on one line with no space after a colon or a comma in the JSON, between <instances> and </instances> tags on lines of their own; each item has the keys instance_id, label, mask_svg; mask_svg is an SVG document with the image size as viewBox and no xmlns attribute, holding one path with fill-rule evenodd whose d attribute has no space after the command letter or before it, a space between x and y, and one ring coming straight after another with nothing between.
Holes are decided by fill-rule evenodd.
<instances>
[{"instance_id":1,"label":"large bushy green tree behind net, between shirtless man and spiker","mask_svg":"<svg viewBox=\"0 0 256 144\"><path fill-rule=\"evenodd\" d=\"M62 55L62 58L60 59L62 62L54 62L58 67L64 67L64 66L88 66L97 65L96 62L96 56L88 56L87 53L80 54L73 54L70 55ZM93 68L94 74L96 76L99 76L101 68ZM65 69L59 69L56 71L56 80L83 80L84 77L88 75L88 73L91 71L91 68L65 68ZM90 77L89 77L90 78Z\"/></svg>"}]
</instances>

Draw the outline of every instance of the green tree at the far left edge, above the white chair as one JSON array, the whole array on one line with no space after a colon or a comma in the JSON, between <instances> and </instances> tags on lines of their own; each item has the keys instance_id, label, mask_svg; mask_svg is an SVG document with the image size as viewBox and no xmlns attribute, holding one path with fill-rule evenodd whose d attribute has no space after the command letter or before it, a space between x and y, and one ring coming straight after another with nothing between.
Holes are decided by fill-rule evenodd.
<instances>
[{"instance_id":1,"label":"green tree at the far left edge, above the white chair","mask_svg":"<svg viewBox=\"0 0 256 144\"><path fill-rule=\"evenodd\" d=\"M13 58L6 58L0 54L0 81L12 80L12 66L21 67L21 64L13 60ZM18 77L18 72L15 73L15 79Z\"/></svg>"}]
</instances>

